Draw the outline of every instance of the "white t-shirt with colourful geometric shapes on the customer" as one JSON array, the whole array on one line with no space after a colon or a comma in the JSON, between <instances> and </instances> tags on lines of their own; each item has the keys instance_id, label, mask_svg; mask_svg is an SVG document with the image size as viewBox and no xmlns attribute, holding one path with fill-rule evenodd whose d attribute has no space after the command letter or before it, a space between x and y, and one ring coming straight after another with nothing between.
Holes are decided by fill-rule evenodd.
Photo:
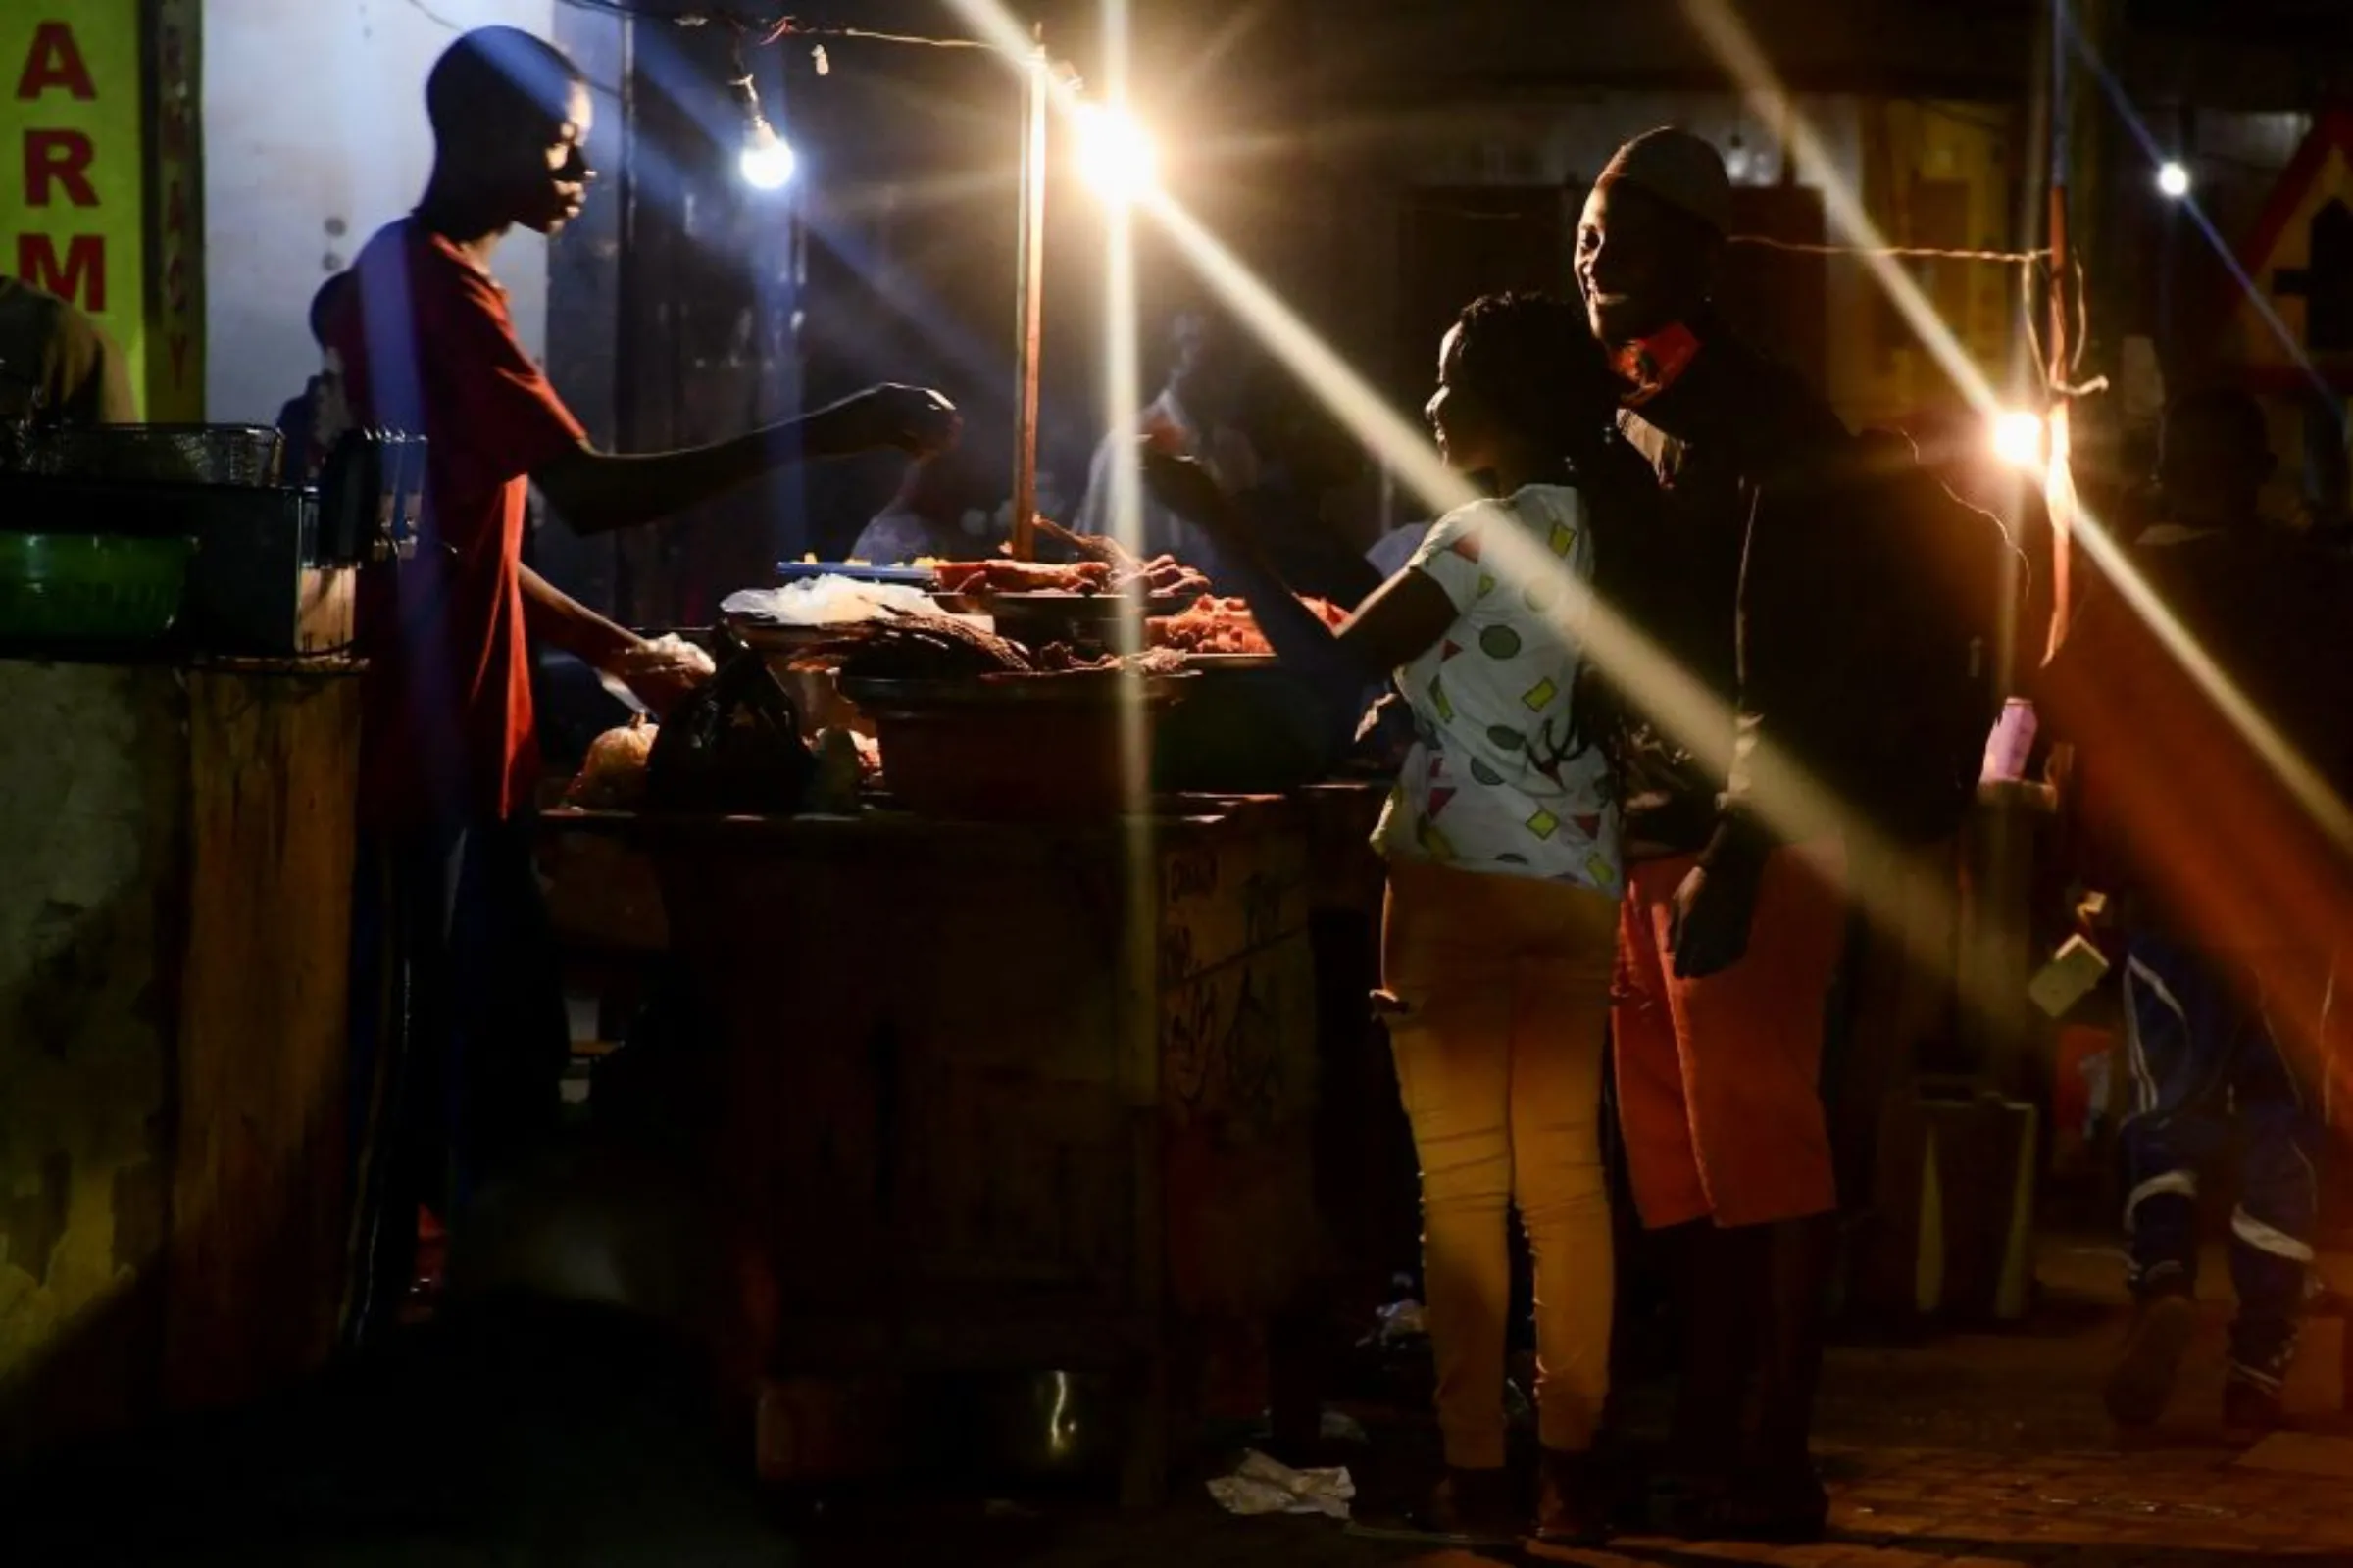
<instances>
[{"instance_id":1,"label":"white t-shirt with colourful geometric shapes on the customer","mask_svg":"<svg viewBox=\"0 0 2353 1568\"><path fill-rule=\"evenodd\" d=\"M1619 806L1602 745L1577 729L1593 531L1560 484L1440 517L1412 569L1457 621L1395 672L1414 748L1374 832L1384 856L1619 893Z\"/></svg>"}]
</instances>

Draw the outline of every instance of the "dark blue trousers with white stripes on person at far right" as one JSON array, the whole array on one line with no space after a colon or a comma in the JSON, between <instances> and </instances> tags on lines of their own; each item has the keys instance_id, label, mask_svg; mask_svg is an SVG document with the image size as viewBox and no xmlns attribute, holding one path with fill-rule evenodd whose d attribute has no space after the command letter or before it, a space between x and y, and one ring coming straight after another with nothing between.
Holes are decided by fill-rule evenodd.
<instances>
[{"instance_id":1,"label":"dark blue trousers with white stripes on person at far right","mask_svg":"<svg viewBox=\"0 0 2353 1568\"><path fill-rule=\"evenodd\" d=\"M2198 1182L2238 1159L2231 1215L2235 1375L2278 1389L2297 1349L2313 1262L2320 1117L2261 1006L2242 997L2242 964L2209 959L2158 933L2134 933L2125 959L2132 1114L2120 1128L2125 1229L2137 1295L2193 1293Z\"/></svg>"}]
</instances>

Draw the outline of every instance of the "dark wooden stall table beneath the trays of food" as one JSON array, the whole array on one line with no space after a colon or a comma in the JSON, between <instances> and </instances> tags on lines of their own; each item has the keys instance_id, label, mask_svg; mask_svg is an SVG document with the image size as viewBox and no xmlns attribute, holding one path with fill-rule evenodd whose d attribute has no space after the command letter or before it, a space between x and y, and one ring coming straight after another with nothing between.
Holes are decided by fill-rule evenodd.
<instances>
[{"instance_id":1,"label":"dark wooden stall table beneath the trays of food","mask_svg":"<svg viewBox=\"0 0 2353 1568\"><path fill-rule=\"evenodd\" d=\"M779 1276L779 1371L1132 1378L1148 1493L1191 1403L1181 1326L1271 1319L1322 1267L1308 919L1362 879L1313 844L1337 813L1322 837L1362 856L1360 797L1071 827L551 816L558 863L652 863L725 1034L711 1150Z\"/></svg>"}]
</instances>

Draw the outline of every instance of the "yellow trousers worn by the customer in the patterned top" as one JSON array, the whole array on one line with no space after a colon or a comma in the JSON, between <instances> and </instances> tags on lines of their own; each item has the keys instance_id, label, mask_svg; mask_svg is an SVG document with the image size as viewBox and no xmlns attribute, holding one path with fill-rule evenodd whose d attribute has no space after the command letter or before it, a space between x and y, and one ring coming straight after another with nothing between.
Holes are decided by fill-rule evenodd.
<instances>
[{"instance_id":1,"label":"yellow trousers worn by the customer in the patterned top","mask_svg":"<svg viewBox=\"0 0 2353 1568\"><path fill-rule=\"evenodd\" d=\"M1381 985L1421 1159L1421 1262L1447 1465L1504 1465L1508 1208L1537 1262L1537 1425L1593 1446L1609 1392L1602 1048L1619 903L1391 863Z\"/></svg>"}]
</instances>

